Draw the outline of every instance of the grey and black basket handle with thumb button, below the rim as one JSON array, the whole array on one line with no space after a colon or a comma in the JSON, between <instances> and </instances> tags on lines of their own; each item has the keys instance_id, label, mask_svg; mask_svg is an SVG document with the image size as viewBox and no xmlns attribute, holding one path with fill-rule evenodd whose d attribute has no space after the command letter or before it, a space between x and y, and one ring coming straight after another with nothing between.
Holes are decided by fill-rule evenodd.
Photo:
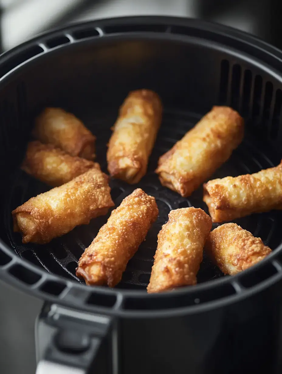
<instances>
[{"instance_id":1,"label":"grey and black basket handle with thumb button, below the rim","mask_svg":"<svg viewBox=\"0 0 282 374\"><path fill-rule=\"evenodd\" d=\"M110 317L45 304L36 325L36 374L113 373Z\"/></svg>"}]
</instances>

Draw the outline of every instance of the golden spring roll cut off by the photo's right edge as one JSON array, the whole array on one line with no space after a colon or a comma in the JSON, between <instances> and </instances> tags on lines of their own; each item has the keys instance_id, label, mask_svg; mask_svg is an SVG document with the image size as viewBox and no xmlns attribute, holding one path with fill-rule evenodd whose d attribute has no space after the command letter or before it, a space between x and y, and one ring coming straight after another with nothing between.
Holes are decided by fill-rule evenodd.
<instances>
[{"instance_id":1,"label":"golden spring roll cut off by the photo's right edge","mask_svg":"<svg viewBox=\"0 0 282 374\"><path fill-rule=\"evenodd\" d=\"M208 181L203 200L213 222L282 209L282 163L251 175Z\"/></svg>"}]
</instances>

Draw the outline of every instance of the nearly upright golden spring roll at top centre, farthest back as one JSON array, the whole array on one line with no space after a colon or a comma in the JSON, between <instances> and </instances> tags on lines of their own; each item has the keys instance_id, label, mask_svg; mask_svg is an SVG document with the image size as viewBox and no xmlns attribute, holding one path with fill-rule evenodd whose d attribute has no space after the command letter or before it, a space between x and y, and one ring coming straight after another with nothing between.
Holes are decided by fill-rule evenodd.
<instances>
[{"instance_id":1,"label":"nearly upright golden spring roll at top centre, farthest back","mask_svg":"<svg viewBox=\"0 0 282 374\"><path fill-rule=\"evenodd\" d=\"M146 174L161 115L157 93L145 89L129 93L119 109L108 145L107 162L112 177L134 184Z\"/></svg>"}]
</instances>

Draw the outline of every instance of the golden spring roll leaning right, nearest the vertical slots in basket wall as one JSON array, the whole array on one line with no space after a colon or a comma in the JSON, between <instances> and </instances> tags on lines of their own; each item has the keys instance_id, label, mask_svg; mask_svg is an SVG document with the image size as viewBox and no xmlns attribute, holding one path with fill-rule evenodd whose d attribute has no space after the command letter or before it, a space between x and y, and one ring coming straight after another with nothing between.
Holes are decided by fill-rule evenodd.
<instances>
[{"instance_id":1,"label":"golden spring roll leaning right, nearest the vertical slots in basket wall","mask_svg":"<svg viewBox=\"0 0 282 374\"><path fill-rule=\"evenodd\" d=\"M163 186L189 196L230 156L243 139L243 119L228 107L213 107L160 157L156 173Z\"/></svg>"}]
</instances>

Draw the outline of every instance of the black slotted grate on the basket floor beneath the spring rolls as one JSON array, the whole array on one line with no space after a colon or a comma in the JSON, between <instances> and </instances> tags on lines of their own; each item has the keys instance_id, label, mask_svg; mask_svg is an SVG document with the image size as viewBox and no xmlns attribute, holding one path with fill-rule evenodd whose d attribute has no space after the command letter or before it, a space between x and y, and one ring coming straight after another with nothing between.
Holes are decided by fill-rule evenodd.
<instances>
[{"instance_id":1,"label":"black slotted grate on the basket floor beneath the spring rolls","mask_svg":"<svg viewBox=\"0 0 282 374\"><path fill-rule=\"evenodd\" d=\"M148 173L140 183L129 186L118 180L111 180L112 198L115 206L118 206L122 199L130 194L135 188L140 187L146 193L155 196L159 217L149 230L145 242L143 242L134 257L129 261L122 281L117 288L127 289L145 289L148 285L153 256L157 248L157 234L161 226L166 223L171 209L195 206L202 208L207 212L207 207L202 201L202 188L195 191L189 198L182 198L177 193L161 186L154 170L157 166L158 157L169 150L176 141L181 139L185 132L199 120L200 116L191 113L179 111L166 111L164 113L163 123L158 134L158 138L150 158ZM111 135L110 127L115 120L115 113L108 118L102 118L93 121L84 119L85 123L97 136L97 161L101 168L106 172L106 144ZM248 139L248 138L247 138ZM274 161L276 164L276 160ZM254 173L262 168L273 166L270 159L264 154L261 147L254 147L252 143L245 140L235 150L227 163L225 163L212 178L222 178L227 175L236 176L246 173ZM5 207L5 226L8 233L10 245L15 252L26 260L44 267L48 272L61 275L69 279L77 279L75 276L76 263L84 249L90 245L96 236L100 227L106 223L110 212L104 216L94 219L89 225L76 227L72 232L52 240L46 245L21 243L21 236L12 231L12 218L10 212L17 206L27 201L36 194L47 191L49 188L39 181L18 170L12 176L10 184L10 195L6 201ZM282 217L282 212L269 212L256 214L251 217L235 220L244 229L249 230L255 236L261 239L271 248L276 248L281 241L278 221ZM213 224L213 228L219 224ZM198 273L198 283L206 282L222 276L222 273L213 266L209 258L204 254Z\"/></svg>"}]
</instances>

